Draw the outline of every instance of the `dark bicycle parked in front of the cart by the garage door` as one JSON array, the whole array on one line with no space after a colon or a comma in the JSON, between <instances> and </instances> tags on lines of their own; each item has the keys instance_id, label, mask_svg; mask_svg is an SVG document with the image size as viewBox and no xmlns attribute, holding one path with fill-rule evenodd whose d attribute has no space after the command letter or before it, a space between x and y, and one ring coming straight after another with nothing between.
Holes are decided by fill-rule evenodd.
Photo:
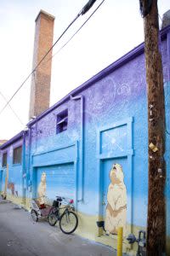
<instances>
[{"instance_id":1,"label":"dark bicycle parked in front of the cart by the garage door","mask_svg":"<svg viewBox=\"0 0 170 256\"><path fill-rule=\"evenodd\" d=\"M66 205L61 205L62 201ZM73 200L68 200L65 197L56 196L53 207L48 214L48 223L54 226L59 220L59 228L65 234L71 234L77 229L78 218L74 212L73 202Z\"/></svg>"}]
</instances>

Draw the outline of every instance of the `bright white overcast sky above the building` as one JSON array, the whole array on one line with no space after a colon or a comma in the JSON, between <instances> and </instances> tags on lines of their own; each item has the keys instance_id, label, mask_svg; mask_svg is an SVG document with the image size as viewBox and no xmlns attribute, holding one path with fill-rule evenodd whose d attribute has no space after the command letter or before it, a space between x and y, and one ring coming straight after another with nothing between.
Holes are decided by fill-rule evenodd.
<instances>
[{"instance_id":1,"label":"bright white overcast sky above the building","mask_svg":"<svg viewBox=\"0 0 170 256\"><path fill-rule=\"evenodd\" d=\"M53 54L76 32L102 0L77 20L54 47ZM35 18L40 9L55 16L54 41L88 0L0 0L0 93L7 99L31 72ZM159 14L170 9L169 0L158 2ZM161 23L161 20L160 20ZM53 58L50 106L95 73L110 65L144 41L139 0L105 0L71 42ZM9 139L28 122L30 100L28 80L11 102L24 125L10 108L0 115L0 139ZM5 105L0 95L0 110Z\"/></svg>"}]
</instances>

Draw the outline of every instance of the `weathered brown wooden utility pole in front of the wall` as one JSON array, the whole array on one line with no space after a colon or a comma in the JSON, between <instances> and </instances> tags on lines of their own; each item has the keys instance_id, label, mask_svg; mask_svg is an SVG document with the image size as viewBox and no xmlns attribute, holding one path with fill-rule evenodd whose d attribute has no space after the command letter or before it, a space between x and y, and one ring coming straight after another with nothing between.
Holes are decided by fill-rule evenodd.
<instances>
[{"instance_id":1,"label":"weathered brown wooden utility pole in front of the wall","mask_svg":"<svg viewBox=\"0 0 170 256\"><path fill-rule=\"evenodd\" d=\"M144 17L144 52L148 99L148 219L146 251L150 256L165 252L166 211L164 186L166 169L165 106L157 0L139 0Z\"/></svg>"}]
</instances>

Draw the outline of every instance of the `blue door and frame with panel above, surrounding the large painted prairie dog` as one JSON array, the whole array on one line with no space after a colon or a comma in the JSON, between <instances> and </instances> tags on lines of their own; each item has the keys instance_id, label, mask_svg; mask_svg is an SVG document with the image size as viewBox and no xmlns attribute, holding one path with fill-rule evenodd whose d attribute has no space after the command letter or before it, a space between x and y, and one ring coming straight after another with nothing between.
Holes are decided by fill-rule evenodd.
<instances>
[{"instance_id":1,"label":"blue door and frame with panel above, surrounding the large painted prairie dog","mask_svg":"<svg viewBox=\"0 0 170 256\"><path fill-rule=\"evenodd\" d=\"M133 118L124 119L102 127L98 131L97 157L99 177L100 203L99 214L105 217L105 206L107 189L109 183L109 173L114 163L122 165L124 181L127 187L127 223L133 224L132 213L132 124ZM112 147L111 147L112 146ZM105 152L106 148L106 152Z\"/></svg>"}]
</instances>

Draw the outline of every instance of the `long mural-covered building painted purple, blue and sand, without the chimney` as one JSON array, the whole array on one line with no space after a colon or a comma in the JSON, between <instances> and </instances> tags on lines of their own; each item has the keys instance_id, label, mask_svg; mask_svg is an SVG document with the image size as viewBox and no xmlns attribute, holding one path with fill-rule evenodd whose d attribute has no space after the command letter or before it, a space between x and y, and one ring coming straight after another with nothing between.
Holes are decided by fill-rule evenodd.
<instances>
[{"instance_id":1,"label":"long mural-covered building painted purple, blue and sand, without the chimney","mask_svg":"<svg viewBox=\"0 0 170 256\"><path fill-rule=\"evenodd\" d=\"M166 105L167 247L170 249L170 26L161 30ZM1 147L0 190L29 207L42 173L46 195L70 197L77 233L116 247L116 232L138 236L148 207L148 131L144 44L32 119ZM8 164L8 168L7 168ZM111 201L110 201L111 200ZM105 221L107 234L97 226ZM123 241L124 251L132 250Z\"/></svg>"}]
</instances>

